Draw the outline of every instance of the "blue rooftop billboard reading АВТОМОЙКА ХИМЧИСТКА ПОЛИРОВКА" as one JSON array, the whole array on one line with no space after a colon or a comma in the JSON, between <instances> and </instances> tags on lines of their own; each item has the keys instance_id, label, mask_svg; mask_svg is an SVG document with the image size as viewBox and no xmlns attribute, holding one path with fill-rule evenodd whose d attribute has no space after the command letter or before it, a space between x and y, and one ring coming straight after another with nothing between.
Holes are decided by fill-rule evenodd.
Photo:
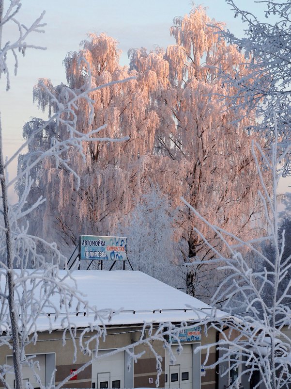
<instances>
[{"instance_id":1,"label":"blue rooftop billboard reading \u0410\u0412\u0422\u041e\u041c\u041e\u0419\u041a\u0410 \u0425\u0418\u041c\u0427\u0418\u0421\u0422\u041a\u0410 \u041f\u041e\u041b\u0418\u0420\u041e\u0412\u041a\u0410","mask_svg":"<svg viewBox=\"0 0 291 389\"><path fill-rule=\"evenodd\" d=\"M79 258L89 260L126 260L127 238L80 235Z\"/></svg>"}]
</instances>

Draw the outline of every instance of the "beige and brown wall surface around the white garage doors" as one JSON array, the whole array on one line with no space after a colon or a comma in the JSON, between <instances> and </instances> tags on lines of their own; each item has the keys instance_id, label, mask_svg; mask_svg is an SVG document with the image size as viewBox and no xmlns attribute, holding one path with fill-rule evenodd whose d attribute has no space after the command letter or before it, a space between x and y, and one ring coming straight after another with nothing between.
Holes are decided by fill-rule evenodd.
<instances>
[{"instance_id":1,"label":"beige and brown wall surface around the white garage doors","mask_svg":"<svg viewBox=\"0 0 291 389\"><path fill-rule=\"evenodd\" d=\"M77 333L77 345L80 332ZM92 334L88 334L92 335ZM122 328L108 328L106 341L102 340L99 343L99 349L116 349L130 345L137 341L140 337L140 328L139 327L122 327ZM67 334L69 338L69 334ZM214 343L215 341L215 331L210 329L208 336L205 337L202 333L201 344ZM164 387L164 370L165 370L165 349L163 348L162 342L153 341L152 346L154 350L163 357L162 361L162 370L163 373L160 376L160 387ZM96 346L92 342L92 349L95 349ZM135 353L146 351L142 357L134 364L134 387L148 387L155 388L155 380L157 377L156 373L156 360L149 349L145 344L141 344L135 348ZM90 362L92 360L91 356L86 356L82 352L77 353L77 361L73 363L74 356L74 347L73 341L71 339L66 339L66 344L62 345L62 332L53 331L51 334L39 333L38 341L36 345L30 344L26 347L27 354L46 354L46 353L55 353L56 354L56 384L59 384L65 377L70 374L71 369L78 369L83 364ZM201 354L201 363L204 362L205 353L202 351ZM6 363L6 355L12 355L11 350L4 347L1 348L0 355L0 364ZM210 357L208 364L214 363L215 360L215 348L211 349ZM64 386L66 388L91 388L91 373L92 367L89 364L81 373L77 374L77 380L68 381ZM149 378L153 378L153 384L149 383ZM208 389L214 388L215 382L215 371L207 370L206 376L201 377L201 388ZM1 388L1 387L0 387Z\"/></svg>"}]
</instances>

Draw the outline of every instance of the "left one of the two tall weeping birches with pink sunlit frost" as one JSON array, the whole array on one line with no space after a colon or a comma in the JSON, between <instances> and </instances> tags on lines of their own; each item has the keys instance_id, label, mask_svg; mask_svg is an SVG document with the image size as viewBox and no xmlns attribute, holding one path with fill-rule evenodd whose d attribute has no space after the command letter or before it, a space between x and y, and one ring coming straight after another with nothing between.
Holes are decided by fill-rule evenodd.
<instances>
[{"instance_id":1,"label":"left one of the two tall weeping birches with pink sunlit frost","mask_svg":"<svg viewBox=\"0 0 291 389\"><path fill-rule=\"evenodd\" d=\"M128 76L137 76L137 72L119 65L120 52L114 39L105 34L90 35L90 38L90 41L82 43L82 50L69 53L65 59L67 81L71 88L83 86L89 65L92 82L96 86L108 81L123 80ZM50 86L50 89L58 96L63 87L60 85L53 89ZM40 92L36 87L34 97L39 106L45 109L49 101L44 99ZM172 178L172 172L165 171L166 159L153 155L156 113L153 110L146 112L147 94L142 93L137 79L98 90L91 94L91 98L94 99L93 122L88 125L89 106L84 100L82 114L77 120L78 130L87 133L92 125L100 127L107 123L107 134L111 137L129 136L129 141L117 147L108 143L84 144L85 163L73 149L68 150L68 157L81 178L78 191L72 187L70 175L64 174L62 168L55 168L51 164L38 164L35 177L45 176L47 185L43 186L37 179L32 188L32 196L37 197L41 190L46 192L47 198L46 208L40 208L37 211L39 213L35 215L37 219L41 217L46 220L46 227L43 227L43 223L35 227L43 235L46 235L46 228L51 230L53 227L56 241L60 246L69 245L70 249L77 243L80 232L112 234L118 220L133 209L133 199L140 197L141 186L153 175L153 171L159 172L160 176L164 175L168 187ZM27 123L24 127L24 137L28 137L38 126L38 119ZM55 133L54 126L55 124L47 127L41 134L42 138L31 144L29 153L23 156L19 165L20 169L23 168L24 160L31 158L35 147L46 148L52 136L59 136ZM177 187L178 183L175 186ZM21 193L21 184L18 189ZM56 209L55 199L58 194L60 198ZM31 199L34 201L34 197Z\"/></svg>"}]
</instances>

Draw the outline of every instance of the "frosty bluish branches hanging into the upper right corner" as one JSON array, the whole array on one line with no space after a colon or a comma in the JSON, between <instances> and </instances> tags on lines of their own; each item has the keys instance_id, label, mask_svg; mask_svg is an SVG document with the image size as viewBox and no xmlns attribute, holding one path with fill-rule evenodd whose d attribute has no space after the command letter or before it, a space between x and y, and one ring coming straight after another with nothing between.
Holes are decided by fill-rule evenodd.
<instances>
[{"instance_id":1,"label":"frosty bluish branches hanging into the upper right corner","mask_svg":"<svg viewBox=\"0 0 291 389\"><path fill-rule=\"evenodd\" d=\"M235 17L245 23L245 34L238 38L230 31L224 31L224 38L245 53L247 68L245 76L235 71L232 77L221 72L227 98L235 110L245 112L245 118L256 110L258 120L249 126L264 134L271 141L275 126L278 132L278 152L286 152L290 142L290 36L291 13L289 1L260 1L265 6L264 15L254 15L251 10L241 10L234 0L227 0ZM265 17L264 17L265 16ZM221 32L218 29L218 32ZM233 91L236 93L233 93ZM281 162L282 175L290 174L289 151Z\"/></svg>"}]
</instances>

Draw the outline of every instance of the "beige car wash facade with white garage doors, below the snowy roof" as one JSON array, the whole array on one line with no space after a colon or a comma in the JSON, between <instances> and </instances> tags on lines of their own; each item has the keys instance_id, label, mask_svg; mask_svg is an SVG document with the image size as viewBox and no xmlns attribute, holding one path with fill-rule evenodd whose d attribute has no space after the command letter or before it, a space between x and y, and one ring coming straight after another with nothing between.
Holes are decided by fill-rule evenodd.
<instances>
[{"instance_id":1,"label":"beige car wash facade with white garage doors, below the snowy roof","mask_svg":"<svg viewBox=\"0 0 291 389\"><path fill-rule=\"evenodd\" d=\"M77 361L73 363L74 348L72 340L66 340L62 344L62 332L41 332L35 345L27 346L27 355L35 355L32 361L38 360L40 370L35 369L43 386L48 386L51 379L54 385L59 385L68 375L75 372L81 366L88 364L83 371L72 377L72 380L64 384L64 388L155 388L157 379L156 358L146 344L140 344L135 348L135 353L144 352L136 363L130 362L126 351L119 349L134 343L140 336L140 327L111 327L107 329L105 342L99 344L98 357L86 356L77 353ZM78 339L78 334L77 337ZM186 341L183 350L178 353L178 345L173 344L172 350L176 360L171 363L162 342L153 341L154 350L163 358L162 373L159 378L159 388L181 389L214 389L215 369L204 370L203 361L205 355L195 350L201 344L212 342L215 339L214 331L209 331L208 336L201 336L201 341ZM115 353L116 352L116 353ZM113 353L113 354L112 354ZM209 356L209 364L215 361L215 348ZM13 366L11 350L2 350L0 364ZM202 365L202 371L201 371ZM29 381L33 388L40 388L33 377L29 366L23 366L24 382ZM11 388L15 388L14 373L6 377Z\"/></svg>"}]
</instances>

